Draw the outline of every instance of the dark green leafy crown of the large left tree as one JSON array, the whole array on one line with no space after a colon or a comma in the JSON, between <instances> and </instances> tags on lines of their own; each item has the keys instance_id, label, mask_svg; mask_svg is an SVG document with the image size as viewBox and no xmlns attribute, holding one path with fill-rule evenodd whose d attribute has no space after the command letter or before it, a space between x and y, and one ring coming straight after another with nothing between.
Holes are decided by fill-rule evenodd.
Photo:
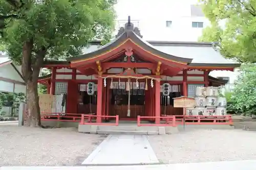
<instances>
[{"instance_id":1,"label":"dark green leafy crown of the large left tree","mask_svg":"<svg viewBox=\"0 0 256 170\"><path fill-rule=\"evenodd\" d=\"M24 2L24 1L23 1ZM30 2L30 3L29 3ZM46 59L79 55L81 49L94 38L106 40L114 28L116 1L29 1L26 6L14 7L0 0L0 14L19 17L1 19L6 50L11 59L20 63L24 42L33 39L33 57L42 47L47 49ZM26 8L25 8L26 7ZM15 10L14 10L15 9ZM1 29L1 23L4 28ZM34 61L34 60L32 60Z\"/></svg>"}]
</instances>

